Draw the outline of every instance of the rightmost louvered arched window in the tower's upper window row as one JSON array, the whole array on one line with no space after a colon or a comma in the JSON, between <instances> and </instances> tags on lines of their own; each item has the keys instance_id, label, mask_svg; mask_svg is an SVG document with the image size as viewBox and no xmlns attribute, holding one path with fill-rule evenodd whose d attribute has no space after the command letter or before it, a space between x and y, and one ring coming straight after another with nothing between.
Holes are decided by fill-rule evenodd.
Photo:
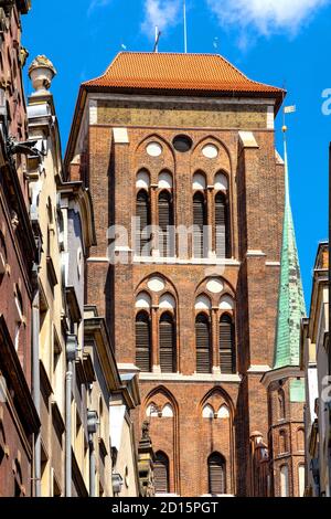
<instances>
[{"instance_id":1,"label":"rightmost louvered arched window in the tower's upper window row","mask_svg":"<svg viewBox=\"0 0 331 519\"><path fill-rule=\"evenodd\" d=\"M227 197L217 193L215 197L215 227L216 227L216 255L231 258L231 232Z\"/></svg>"}]
</instances>

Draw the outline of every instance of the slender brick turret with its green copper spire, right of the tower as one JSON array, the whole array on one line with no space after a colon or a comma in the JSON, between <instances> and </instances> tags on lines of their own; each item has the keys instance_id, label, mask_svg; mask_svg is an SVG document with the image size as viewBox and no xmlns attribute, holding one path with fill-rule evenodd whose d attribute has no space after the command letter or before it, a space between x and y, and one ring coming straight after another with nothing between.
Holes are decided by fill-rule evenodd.
<instances>
[{"instance_id":1,"label":"slender brick turret with its green copper spire, right of the tower","mask_svg":"<svg viewBox=\"0 0 331 519\"><path fill-rule=\"evenodd\" d=\"M263 377L268 393L269 492L275 497L305 494L305 378L300 368L300 326L306 305L289 195L285 142L285 215L273 370Z\"/></svg>"}]
</instances>

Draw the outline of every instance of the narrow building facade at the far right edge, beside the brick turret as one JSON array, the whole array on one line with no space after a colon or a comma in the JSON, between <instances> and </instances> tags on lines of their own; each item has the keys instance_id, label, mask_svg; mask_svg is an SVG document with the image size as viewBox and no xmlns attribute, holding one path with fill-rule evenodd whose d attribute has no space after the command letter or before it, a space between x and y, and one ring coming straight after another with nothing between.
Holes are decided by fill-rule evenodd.
<instances>
[{"instance_id":1,"label":"narrow building facade at the far right edge, beside the brick turret","mask_svg":"<svg viewBox=\"0 0 331 519\"><path fill-rule=\"evenodd\" d=\"M301 326L306 379L306 495L331 496L329 243L319 245L309 318Z\"/></svg>"}]
</instances>

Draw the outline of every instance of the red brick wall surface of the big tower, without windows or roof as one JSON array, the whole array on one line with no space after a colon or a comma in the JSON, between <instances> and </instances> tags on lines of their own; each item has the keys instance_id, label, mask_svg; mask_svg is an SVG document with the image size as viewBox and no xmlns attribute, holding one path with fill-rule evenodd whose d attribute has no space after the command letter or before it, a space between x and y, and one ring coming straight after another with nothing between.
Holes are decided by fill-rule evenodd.
<instances>
[{"instance_id":1,"label":"red brick wall surface of the big tower, without windows or roof","mask_svg":"<svg viewBox=\"0 0 331 519\"><path fill-rule=\"evenodd\" d=\"M110 93L107 100L104 97L105 94L98 100L97 121L89 126L87 144L81 150L81 166L75 163L71 169L72 176L79 174L90 188L95 208L98 245L90 251L87 265L88 304L97 305L100 314L107 316L118 362L132 364L136 296L146 289L151 276L161 276L167 285L164 290L177 301L179 370L181 375L189 377L195 371L195 298L206 292L210 277L222 277L226 292L236 301L234 318L242 381L238 378L229 382L222 377L210 381L183 381L181 377L164 381L157 373L153 380L141 377L142 404L137 424L141 426L146 420L150 402L172 405L172 419L151 417L153 448L164 452L170 460L171 492L207 494L207 458L220 452L226 459L227 492L249 496L253 491L249 435L258 430L265 438L268 436L268 395L260 379L264 367L273 364L284 214L284 168L275 158L275 135L267 127L267 106L248 100L211 104L203 99L189 105L162 102L161 106L152 98L119 102ZM87 117L88 112L85 114ZM114 127L128 129L128 144L114 141ZM244 148L238 129L253 131L258 148ZM173 137L183 133L193 140L193 148L186 153L172 147ZM161 157L146 153L149 141L162 146ZM205 144L218 147L216 159L202 156ZM68 156L68 160L73 158ZM140 169L148 169L151 186L158 183L163 169L172 173L175 224L185 226L193 223L194 172L202 170L207 184L213 186L215 173L225 171L236 262L220 274L215 265L192 265L189 261L181 265L116 266L103 261L107 255L107 226L118 223L130 227ZM151 294L153 305L158 305L161 294ZM216 300L213 305L217 305ZM260 367L260 372L248 371L249 367ZM203 406L210 402L215 407L225 403L229 417L202 419Z\"/></svg>"}]
</instances>

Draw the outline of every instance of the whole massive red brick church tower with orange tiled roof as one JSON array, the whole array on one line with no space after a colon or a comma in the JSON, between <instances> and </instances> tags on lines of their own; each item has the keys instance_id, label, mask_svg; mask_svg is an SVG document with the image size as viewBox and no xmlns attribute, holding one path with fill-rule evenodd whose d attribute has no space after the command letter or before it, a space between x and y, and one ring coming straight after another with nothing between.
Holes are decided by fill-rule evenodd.
<instances>
[{"instance_id":1,"label":"whole massive red brick church tower with orange tiled roof","mask_svg":"<svg viewBox=\"0 0 331 519\"><path fill-rule=\"evenodd\" d=\"M86 298L107 318L120 370L140 371L137 423L149 424L159 495L258 494L284 95L220 55L131 52L79 91L66 168L95 208Z\"/></svg>"}]
</instances>

